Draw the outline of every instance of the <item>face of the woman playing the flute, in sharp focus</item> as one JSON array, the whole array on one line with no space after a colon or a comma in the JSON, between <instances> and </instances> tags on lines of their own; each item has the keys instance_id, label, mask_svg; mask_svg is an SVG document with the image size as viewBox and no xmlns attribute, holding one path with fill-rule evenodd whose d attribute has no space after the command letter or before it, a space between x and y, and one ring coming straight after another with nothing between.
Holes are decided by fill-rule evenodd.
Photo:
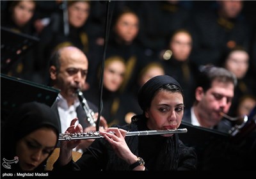
<instances>
[{"instance_id":1,"label":"face of the woman playing the flute, in sharp focus","mask_svg":"<svg viewBox=\"0 0 256 179\"><path fill-rule=\"evenodd\" d=\"M184 113L183 97L180 93L159 91L152 99L151 106L145 111L150 130L177 129ZM173 134L164 134L164 137Z\"/></svg>"}]
</instances>

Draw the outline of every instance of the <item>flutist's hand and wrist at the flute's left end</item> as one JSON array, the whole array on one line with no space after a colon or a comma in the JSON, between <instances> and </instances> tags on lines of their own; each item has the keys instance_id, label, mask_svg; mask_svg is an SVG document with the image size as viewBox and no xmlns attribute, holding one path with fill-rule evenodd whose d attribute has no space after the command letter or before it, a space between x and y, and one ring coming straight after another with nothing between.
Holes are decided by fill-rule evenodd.
<instances>
[{"instance_id":1,"label":"flutist's hand and wrist at the flute's left end","mask_svg":"<svg viewBox=\"0 0 256 179\"><path fill-rule=\"evenodd\" d=\"M75 125L78 118L74 118L71 123L70 127L67 128L65 133L81 133L83 132L83 127L81 124ZM60 147L60 165L64 166L72 160L72 149L76 148L76 146L81 143L81 140L71 140L71 141L61 141Z\"/></svg>"}]
</instances>

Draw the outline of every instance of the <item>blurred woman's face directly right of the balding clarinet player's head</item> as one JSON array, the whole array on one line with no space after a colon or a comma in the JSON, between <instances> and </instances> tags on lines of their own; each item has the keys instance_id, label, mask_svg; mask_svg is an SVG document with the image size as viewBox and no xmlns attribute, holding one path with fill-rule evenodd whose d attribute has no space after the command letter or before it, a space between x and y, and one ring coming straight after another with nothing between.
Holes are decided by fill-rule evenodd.
<instances>
[{"instance_id":1,"label":"blurred woman's face directly right of the balding clarinet player's head","mask_svg":"<svg viewBox=\"0 0 256 179\"><path fill-rule=\"evenodd\" d=\"M104 86L109 91L117 91L124 81L125 64L122 61L111 61L104 70Z\"/></svg>"}]
</instances>

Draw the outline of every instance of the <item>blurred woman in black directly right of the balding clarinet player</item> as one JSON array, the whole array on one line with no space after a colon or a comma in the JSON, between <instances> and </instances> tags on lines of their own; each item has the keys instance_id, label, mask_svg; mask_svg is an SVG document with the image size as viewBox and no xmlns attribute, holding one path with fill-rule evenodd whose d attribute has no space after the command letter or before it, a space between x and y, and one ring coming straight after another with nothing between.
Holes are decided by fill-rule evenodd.
<instances>
[{"instance_id":1,"label":"blurred woman in black directly right of the balding clarinet player","mask_svg":"<svg viewBox=\"0 0 256 179\"><path fill-rule=\"evenodd\" d=\"M102 116L106 118L109 126L113 124L124 125L125 108L122 105L120 88L124 82L124 74L126 70L125 61L119 56L112 56L111 58L105 59L104 63L102 80ZM97 77L94 77L93 84L90 85L88 90L84 91L84 96L96 105L99 105L101 68L102 65L98 68Z\"/></svg>"}]
</instances>

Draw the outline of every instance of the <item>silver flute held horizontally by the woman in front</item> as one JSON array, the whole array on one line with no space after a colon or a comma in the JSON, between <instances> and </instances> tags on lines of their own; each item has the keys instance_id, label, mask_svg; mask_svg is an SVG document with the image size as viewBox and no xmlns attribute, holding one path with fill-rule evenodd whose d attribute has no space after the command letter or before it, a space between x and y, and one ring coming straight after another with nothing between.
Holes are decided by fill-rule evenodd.
<instances>
[{"instance_id":1,"label":"silver flute held horizontally by the woman in front","mask_svg":"<svg viewBox=\"0 0 256 179\"><path fill-rule=\"evenodd\" d=\"M178 128L173 130L142 130L142 131L132 131L127 132L126 136L150 136L150 135L163 135L163 134L175 134L175 133L186 133L188 132L187 128ZM111 134L115 134L113 131L109 131ZM90 131L83 133L65 133L59 135L59 141L71 141L79 139L102 139L102 136L99 131Z\"/></svg>"}]
</instances>

